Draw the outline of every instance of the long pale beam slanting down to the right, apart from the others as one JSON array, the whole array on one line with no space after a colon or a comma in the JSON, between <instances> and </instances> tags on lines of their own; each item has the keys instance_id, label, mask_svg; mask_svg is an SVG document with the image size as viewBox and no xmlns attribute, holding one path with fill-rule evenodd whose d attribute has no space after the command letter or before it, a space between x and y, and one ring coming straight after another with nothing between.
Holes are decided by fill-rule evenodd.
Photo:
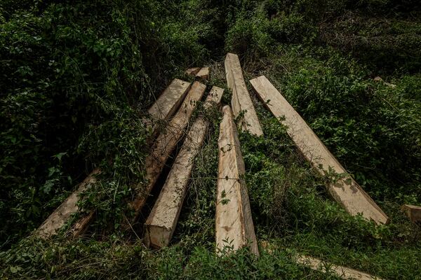
<instances>
[{"instance_id":1,"label":"long pale beam slanting down to the right, apart from the others","mask_svg":"<svg viewBox=\"0 0 421 280\"><path fill-rule=\"evenodd\" d=\"M251 85L258 93L263 104L267 106L276 118L283 118L281 123L286 125L288 135L305 158L322 175L332 169L343 177L333 183L328 183L327 188L333 198L343 205L349 214L362 216L373 220L377 224L389 221L386 214L375 204L371 197L350 176L340 162L328 151L326 146L314 134L313 130L305 123L300 115L286 101L282 94L276 90L265 76L250 80Z\"/></svg>"}]
</instances>

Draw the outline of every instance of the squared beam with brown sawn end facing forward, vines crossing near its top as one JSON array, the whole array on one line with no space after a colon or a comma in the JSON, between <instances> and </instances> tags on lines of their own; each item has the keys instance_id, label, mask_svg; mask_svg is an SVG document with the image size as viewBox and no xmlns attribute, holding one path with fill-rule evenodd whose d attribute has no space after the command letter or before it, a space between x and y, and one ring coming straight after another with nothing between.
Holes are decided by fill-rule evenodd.
<instances>
[{"instance_id":1,"label":"squared beam with brown sawn end facing forward, vines crossing near its top","mask_svg":"<svg viewBox=\"0 0 421 280\"><path fill-rule=\"evenodd\" d=\"M212 87L205 101L205 108L219 104L224 90ZM161 248L168 246L180 216L187 193L194 158L199 153L208 130L208 121L198 118L185 139L180 153L168 174L154 208L145 223L145 244Z\"/></svg>"}]
</instances>

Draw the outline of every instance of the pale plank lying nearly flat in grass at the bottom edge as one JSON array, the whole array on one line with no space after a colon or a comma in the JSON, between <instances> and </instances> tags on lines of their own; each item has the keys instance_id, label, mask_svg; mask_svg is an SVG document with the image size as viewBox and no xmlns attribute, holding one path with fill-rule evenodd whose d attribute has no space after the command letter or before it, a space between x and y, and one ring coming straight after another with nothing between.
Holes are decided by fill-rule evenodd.
<instances>
[{"instance_id":1,"label":"pale plank lying nearly flat in grass at the bottom edge","mask_svg":"<svg viewBox=\"0 0 421 280\"><path fill-rule=\"evenodd\" d=\"M342 267L340 265L333 265L329 262L324 262L316 258L309 257L307 255L299 255L295 260L300 265L305 265L311 269L318 270L320 272L331 272L338 275L342 279L355 279L355 280L382 280L376 276L361 272L356 269L349 267Z\"/></svg>"}]
</instances>

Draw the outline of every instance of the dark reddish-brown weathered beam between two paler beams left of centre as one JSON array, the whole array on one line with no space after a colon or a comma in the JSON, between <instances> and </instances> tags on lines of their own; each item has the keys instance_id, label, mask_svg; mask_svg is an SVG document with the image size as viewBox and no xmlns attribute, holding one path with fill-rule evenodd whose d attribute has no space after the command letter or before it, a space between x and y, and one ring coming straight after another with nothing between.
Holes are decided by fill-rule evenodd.
<instances>
[{"instance_id":1,"label":"dark reddish-brown weathered beam between two paler beams left of centre","mask_svg":"<svg viewBox=\"0 0 421 280\"><path fill-rule=\"evenodd\" d=\"M154 187L156 180L158 180L159 174L166 164L168 158L173 152L178 141L185 132L185 128L189 123L189 119L192 116L196 104L200 101L203 96L203 92L206 90L206 85L199 82L194 82L192 88L189 90L187 97L181 104L180 109L175 114L174 118L168 123L165 132L161 132L159 137L156 139L152 152L146 158L146 178L147 186L143 190L140 190L138 196L131 203L135 216L133 221L138 218L140 210L144 206L149 193Z\"/></svg>"}]
</instances>

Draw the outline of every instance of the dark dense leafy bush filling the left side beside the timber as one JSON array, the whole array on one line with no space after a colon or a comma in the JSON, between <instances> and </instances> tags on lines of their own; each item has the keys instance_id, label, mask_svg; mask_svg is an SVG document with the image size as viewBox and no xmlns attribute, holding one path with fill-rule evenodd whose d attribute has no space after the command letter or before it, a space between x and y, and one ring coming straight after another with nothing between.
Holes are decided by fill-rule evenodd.
<instances>
[{"instance_id":1,"label":"dark dense leafy bush filling the left side beside the timber","mask_svg":"<svg viewBox=\"0 0 421 280\"><path fill-rule=\"evenodd\" d=\"M160 1L12 7L0 28L1 244L39 225L93 165L109 176L129 166L121 183L142 181L147 132L135 109L203 59L213 28L159 20L174 9Z\"/></svg>"}]
</instances>

